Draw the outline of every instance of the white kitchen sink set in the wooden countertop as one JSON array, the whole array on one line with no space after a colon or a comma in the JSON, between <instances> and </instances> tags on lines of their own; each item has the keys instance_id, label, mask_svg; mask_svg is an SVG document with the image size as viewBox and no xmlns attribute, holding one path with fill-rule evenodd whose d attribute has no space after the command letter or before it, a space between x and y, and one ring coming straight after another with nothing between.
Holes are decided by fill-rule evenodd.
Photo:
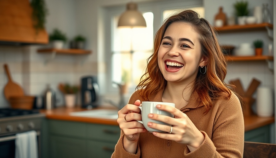
<instances>
[{"instance_id":1,"label":"white kitchen sink set in the wooden countertop","mask_svg":"<svg viewBox=\"0 0 276 158\"><path fill-rule=\"evenodd\" d=\"M78 116L78 117L117 119L118 110L115 110L115 109L86 110L86 111L71 112L70 115Z\"/></svg>"}]
</instances>

